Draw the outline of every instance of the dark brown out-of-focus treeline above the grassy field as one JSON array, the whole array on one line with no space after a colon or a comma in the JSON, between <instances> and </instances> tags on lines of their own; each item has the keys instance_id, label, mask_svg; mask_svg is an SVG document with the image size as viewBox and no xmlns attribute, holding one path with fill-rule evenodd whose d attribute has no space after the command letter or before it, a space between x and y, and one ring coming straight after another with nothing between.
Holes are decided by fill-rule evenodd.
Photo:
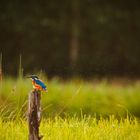
<instances>
[{"instance_id":1,"label":"dark brown out-of-focus treeline above the grassy field","mask_svg":"<svg viewBox=\"0 0 140 140\"><path fill-rule=\"evenodd\" d=\"M0 4L4 73L140 76L139 0L5 0Z\"/></svg>"}]
</instances>

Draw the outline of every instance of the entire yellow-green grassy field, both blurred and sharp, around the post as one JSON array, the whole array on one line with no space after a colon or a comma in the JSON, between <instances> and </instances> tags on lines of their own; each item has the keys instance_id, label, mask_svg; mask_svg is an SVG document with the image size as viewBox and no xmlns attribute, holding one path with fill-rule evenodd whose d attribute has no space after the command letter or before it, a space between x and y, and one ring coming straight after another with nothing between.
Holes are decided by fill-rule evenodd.
<instances>
[{"instance_id":1,"label":"entire yellow-green grassy field, both blurred and sharp, around the post","mask_svg":"<svg viewBox=\"0 0 140 140\"><path fill-rule=\"evenodd\" d=\"M48 81L42 93L44 140L140 140L140 82ZM28 79L0 84L0 140L27 140Z\"/></svg>"}]
</instances>

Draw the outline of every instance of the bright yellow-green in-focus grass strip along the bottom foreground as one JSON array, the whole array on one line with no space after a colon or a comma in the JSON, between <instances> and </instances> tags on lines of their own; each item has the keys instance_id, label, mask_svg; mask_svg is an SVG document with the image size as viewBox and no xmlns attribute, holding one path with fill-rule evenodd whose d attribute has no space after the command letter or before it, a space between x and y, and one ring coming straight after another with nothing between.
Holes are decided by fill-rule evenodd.
<instances>
[{"instance_id":1,"label":"bright yellow-green in-focus grass strip along the bottom foreground","mask_svg":"<svg viewBox=\"0 0 140 140\"><path fill-rule=\"evenodd\" d=\"M94 117L43 119L40 134L43 140L139 140L140 125L136 119L118 121ZM27 140L28 128L24 120L3 122L0 120L1 140Z\"/></svg>"}]
</instances>

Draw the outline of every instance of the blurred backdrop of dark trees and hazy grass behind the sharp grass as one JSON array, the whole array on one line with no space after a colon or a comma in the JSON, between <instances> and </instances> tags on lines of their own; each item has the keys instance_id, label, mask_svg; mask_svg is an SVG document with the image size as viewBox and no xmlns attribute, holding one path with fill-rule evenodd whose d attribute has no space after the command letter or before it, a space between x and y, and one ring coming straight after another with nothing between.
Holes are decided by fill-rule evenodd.
<instances>
[{"instance_id":1,"label":"blurred backdrop of dark trees and hazy grass behind the sharp grass","mask_svg":"<svg viewBox=\"0 0 140 140\"><path fill-rule=\"evenodd\" d=\"M22 74L47 85L46 117L140 118L140 1L1 0L0 117L26 116Z\"/></svg>"}]
</instances>

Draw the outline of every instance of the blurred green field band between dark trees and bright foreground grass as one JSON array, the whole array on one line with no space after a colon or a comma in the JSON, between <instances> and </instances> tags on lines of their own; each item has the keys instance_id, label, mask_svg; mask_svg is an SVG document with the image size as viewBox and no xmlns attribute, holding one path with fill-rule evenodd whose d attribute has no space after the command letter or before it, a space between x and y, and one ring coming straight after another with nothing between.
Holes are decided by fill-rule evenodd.
<instances>
[{"instance_id":1,"label":"blurred green field band between dark trees and bright foreground grass","mask_svg":"<svg viewBox=\"0 0 140 140\"><path fill-rule=\"evenodd\" d=\"M42 93L42 115L56 116L100 115L140 117L140 82L120 83L102 81L43 79L48 94ZM26 117L29 79L5 78L0 85L0 116L4 119Z\"/></svg>"}]
</instances>

